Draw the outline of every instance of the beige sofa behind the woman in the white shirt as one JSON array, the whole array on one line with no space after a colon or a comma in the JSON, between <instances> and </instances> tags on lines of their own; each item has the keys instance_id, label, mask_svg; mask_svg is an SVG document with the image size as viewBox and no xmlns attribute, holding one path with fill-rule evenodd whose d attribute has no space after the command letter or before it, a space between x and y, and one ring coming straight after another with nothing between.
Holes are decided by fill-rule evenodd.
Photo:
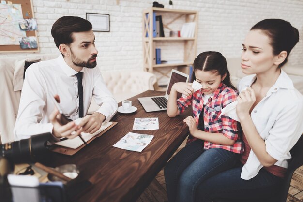
<instances>
[{"instance_id":1,"label":"beige sofa behind the woman in the white shirt","mask_svg":"<svg viewBox=\"0 0 303 202\"><path fill-rule=\"evenodd\" d=\"M246 76L242 73L240 58L227 58L227 67L230 72L231 82L237 87L239 80ZM303 94L303 68L291 66L286 63L282 70L284 70L293 82L295 88L297 88Z\"/></svg>"}]
</instances>

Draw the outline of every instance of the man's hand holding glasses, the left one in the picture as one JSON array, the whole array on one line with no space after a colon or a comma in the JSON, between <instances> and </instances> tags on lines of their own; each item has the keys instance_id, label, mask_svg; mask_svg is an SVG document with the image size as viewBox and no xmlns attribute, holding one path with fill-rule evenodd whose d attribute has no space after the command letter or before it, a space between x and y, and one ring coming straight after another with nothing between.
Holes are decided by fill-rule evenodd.
<instances>
[{"instance_id":1,"label":"man's hand holding glasses, the left one in the picture","mask_svg":"<svg viewBox=\"0 0 303 202\"><path fill-rule=\"evenodd\" d=\"M68 139L73 139L82 132L82 129L78 129L78 126L74 123L74 121L71 121L65 125L61 125L58 121L60 120L60 116L61 114L57 109L55 109L49 116L50 122L53 124L52 133L55 137L66 137Z\"/></svg>"}]
</instances>

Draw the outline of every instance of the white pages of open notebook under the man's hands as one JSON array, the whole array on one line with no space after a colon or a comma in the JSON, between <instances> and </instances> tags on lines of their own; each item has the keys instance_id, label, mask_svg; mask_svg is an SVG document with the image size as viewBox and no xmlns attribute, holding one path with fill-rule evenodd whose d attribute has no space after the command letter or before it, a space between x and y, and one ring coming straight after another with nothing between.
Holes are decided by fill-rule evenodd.
<instances>
[{"instance_id":1,"label":"white pages of open notebook under the man's hands","mask_svg":"<svg viewBox=\"0 0 303 202\"><path fill-rule=\"evenodd\" d=\"M76 119L75 123L79 124L81 119L82 118ZM93 134L82 132L81 133L82 138L84 139L85 142L88 142L91 138L93 138L95 135L99 134L100 132L102 132L103 130L105 130L107 127L109 127L112 124L113 124L113 122L106 122L106 123L103 122L100 129L97 130L96 132L94 132ZM57 142L55 144L60 145L60 146L65 146L68 148L72 148L72 149L76 149L84 143L82 142L82 140L79 137L75 137L74 139L66 139L66 140Z\"/></svg>"}]
</instances>

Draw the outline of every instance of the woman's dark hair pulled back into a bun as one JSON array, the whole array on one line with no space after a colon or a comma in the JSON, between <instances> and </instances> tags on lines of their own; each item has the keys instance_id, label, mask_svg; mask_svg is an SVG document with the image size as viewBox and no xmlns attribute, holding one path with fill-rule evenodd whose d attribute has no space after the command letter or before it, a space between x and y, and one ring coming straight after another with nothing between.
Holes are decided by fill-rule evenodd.
<instances>
[{"instance_id":1,"label":"woman's dark hair pulled back into a bun","mask_svg":"<svg viewBox=\"0 0 303 202\"><path fill-rule=\"evenodd\" d=\"M287 57L279 67L282 67L287 62L291 49L299 41L298 29L292 27L289 22L281 19L262 20L250 30L261 30L270 38L270 44L273 47L273 55L276 56L281 53L281 51L287 52Z\"/></svg>"}]
</instances>

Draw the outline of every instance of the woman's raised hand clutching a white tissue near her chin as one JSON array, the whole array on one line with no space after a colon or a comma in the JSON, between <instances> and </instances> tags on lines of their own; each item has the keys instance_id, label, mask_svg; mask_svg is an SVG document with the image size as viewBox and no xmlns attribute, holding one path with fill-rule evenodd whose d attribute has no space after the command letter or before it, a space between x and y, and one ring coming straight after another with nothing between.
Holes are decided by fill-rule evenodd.
<instances>
[{"instance_id":1,"label":"woman's raised hand clutching a white tissue near her chin","mask_svg":"<svg viewBox=\"0 0 303 202\"><path fill-rule=\"evenodd\" d=\"M242 90L239 96L237 97L237 101L238 104L236 107L236 112L241 120L246 115L250 115L250 108L256 101L255 91L251 87Z\"/></svg>"}]
</instances>

